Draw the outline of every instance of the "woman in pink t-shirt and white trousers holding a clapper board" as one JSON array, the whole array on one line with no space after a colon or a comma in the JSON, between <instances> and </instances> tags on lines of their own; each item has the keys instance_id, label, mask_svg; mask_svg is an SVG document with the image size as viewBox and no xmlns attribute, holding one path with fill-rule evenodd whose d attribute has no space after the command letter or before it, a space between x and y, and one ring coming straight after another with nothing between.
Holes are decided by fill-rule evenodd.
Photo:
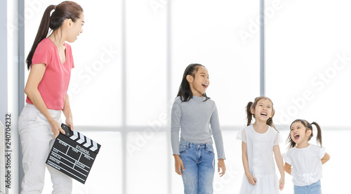
<instances>
[{"instance_id":1,"label":"woman in pink t-shirt and white trousers holding a clapper board","mask_svg":"<svg viewBox=\"0 0 351 194\"><path fill-rule=\"evenodd\" d=\"M22 165L25 176L21 193L41 193L44 188L46 157L53 141L61 132L61 112L65 123L73 130L72 112L67 89L74 67L71 46L82 32L84 13L79 4L64 1L46 8L27 57L30 70L18 130L22 143ZM52 32L52 33L51 33ZM48 167L53 193L72 193L72 179Z\"/></svg>"}]
</instances>

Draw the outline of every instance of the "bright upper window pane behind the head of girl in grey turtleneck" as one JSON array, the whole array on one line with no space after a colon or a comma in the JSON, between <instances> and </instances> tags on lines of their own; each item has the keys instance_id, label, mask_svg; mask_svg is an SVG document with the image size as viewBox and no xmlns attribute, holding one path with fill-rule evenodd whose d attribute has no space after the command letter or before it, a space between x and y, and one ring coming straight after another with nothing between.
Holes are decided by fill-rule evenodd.
<instances>
[{"instance_id":1,"label":"bright upper window pane behind the head of girl in grey turtleneck","mask_svg":"<svg viewBox=\"0 0 351 194\"><path fill-rule=\"evenodd\" d=\"M208 69L207 95L216 102L223 126L242 126L245 105L259 95L259 17L253 2L174 1L171 6L172 97L185 67Z\"/></svg>"}]
</instances>

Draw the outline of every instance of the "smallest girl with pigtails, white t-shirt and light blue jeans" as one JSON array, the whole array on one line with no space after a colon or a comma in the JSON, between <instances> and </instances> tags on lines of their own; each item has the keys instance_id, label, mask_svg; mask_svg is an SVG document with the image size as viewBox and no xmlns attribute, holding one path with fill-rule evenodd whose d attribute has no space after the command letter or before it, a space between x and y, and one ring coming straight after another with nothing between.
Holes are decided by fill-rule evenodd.
<instances>
[{"instance_id":1,"label":"smallest girl with pigtails, white t-shirt and light blue jeans","mask_svg":"<svg viewBox=\"0 0 351 194\"><path fill-rule=\"evenodd\" d=\"M313 136L312 124L317 127L317 142L308 143ZM285 172L293 176L293 190L295 194L320 194L322 178L322 164L330 159L325 148L322 148L322 131L319 124L311 124L304 119L296 119L290 125L287 139L289 150L283 154Z\"/></svg>"}]
</instances>

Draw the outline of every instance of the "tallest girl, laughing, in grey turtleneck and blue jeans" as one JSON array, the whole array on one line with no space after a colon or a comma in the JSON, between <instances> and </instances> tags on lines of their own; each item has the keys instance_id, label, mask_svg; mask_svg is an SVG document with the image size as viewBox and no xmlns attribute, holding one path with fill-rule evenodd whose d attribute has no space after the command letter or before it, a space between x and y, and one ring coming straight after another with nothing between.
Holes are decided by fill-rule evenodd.
<instances>
[{"instance_id":1,"label":"tallest girl, laughing, in grey turtleneck and blue jeans","mask_svg":"<svg viewBox=\"0 0 351 194\"><path fill-rule=\"evenodd\" d=\"M185 193L213 193L212 136L218 153L218 172L222 169L220 176L225 174L218 111L214 101L206 96L209 83L206 67L188 65L172 107L171 144L176 172L182 175Z\"/></svg>"}]
</instances>

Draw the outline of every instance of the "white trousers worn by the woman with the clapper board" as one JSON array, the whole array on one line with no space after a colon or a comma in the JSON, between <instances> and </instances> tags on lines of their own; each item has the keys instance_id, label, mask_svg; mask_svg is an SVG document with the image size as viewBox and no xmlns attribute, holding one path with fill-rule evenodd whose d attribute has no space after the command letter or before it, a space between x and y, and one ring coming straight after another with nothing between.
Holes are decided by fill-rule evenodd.
<instances>
[{"instance_id":1,"label":"white trousers worn by the woman with the clapper board","mask_svg":"<svg viewBox=\"0 0 351 194\"><path fill-rule=\"evenodd\" d=\"M61 123L61 110L49 110L49 112ZM45 163L55 141L51 125L46 117L34 105L28 103L18 118L18 130L22 143L22 165L25 172L21 194L42 192L45 167L51 174L53 194L72 193L72 178Z\"/></svg>"}]
</instances>

